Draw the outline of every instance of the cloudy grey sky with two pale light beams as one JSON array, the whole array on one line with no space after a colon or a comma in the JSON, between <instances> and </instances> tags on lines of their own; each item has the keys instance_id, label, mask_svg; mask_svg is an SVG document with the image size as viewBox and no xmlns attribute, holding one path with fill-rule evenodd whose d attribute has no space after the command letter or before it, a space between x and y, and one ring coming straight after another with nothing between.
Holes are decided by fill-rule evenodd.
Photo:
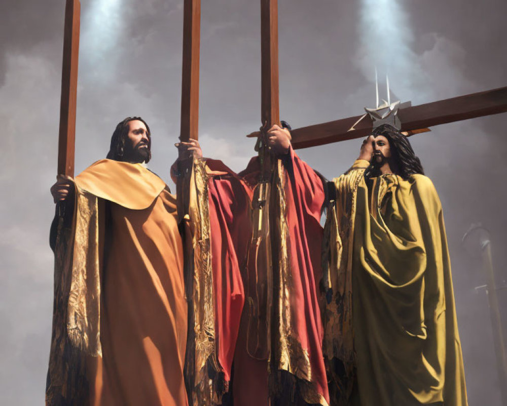
<instances>
[{"instance_id":1,"label":"cloudy grey sky with two pale light beams","mask_svg":"<svg viewBox=\"0 0 507 406\"><path fill-rule=\"evenodd\" d=\"M199 138L241 170L260 126L260 5L202 2ZM3 0L0 24L0 403L44 402L53 304L54 205L64 0ZM183 0L82 0L76 173L105 157L115 125L140 115L150 168L167 182L179 131ZM293 128L361 114L382 83L414 105L507 85L504 0L279 0L280 114ZM481 260L461 237L491 231L507 279L507 115L411 138L447 225L470 405L500 404ZM324 176L343 173L360 140L300 150ZM171 185L172 186L172 185ZM473 244L474 245L474 244ZM478 243L475 244L478 251ZM474 250L472 250L474 251ZM502 307L507 290L500 290ZM505 315L503 315L505 316Z\"/></svg>"}]
</instances>

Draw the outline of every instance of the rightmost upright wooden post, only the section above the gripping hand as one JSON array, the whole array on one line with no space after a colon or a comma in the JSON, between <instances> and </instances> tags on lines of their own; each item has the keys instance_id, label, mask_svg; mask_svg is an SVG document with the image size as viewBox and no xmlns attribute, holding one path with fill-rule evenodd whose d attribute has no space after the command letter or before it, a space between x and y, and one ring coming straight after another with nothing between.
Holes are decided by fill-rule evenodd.
<instances>
[{"instance_id":1,"label":"rightmost upright wooden post, only the section above the gripping hand","mask_svg":"<svg viewBox=\"0 0 507 406\"><path fill-rule=\"evenodd\" d=\"M278 101L278 1L261 0L261 121L280 124Z\"/></svg>"}]
</instances>

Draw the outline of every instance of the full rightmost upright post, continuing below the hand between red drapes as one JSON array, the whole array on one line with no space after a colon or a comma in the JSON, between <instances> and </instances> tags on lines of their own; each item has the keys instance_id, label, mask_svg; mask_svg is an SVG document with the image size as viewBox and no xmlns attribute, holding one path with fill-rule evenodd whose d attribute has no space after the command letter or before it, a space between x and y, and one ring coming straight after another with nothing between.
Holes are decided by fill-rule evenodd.
<instances>
[{"instance_id":1,"label":"full rightmost upright post, continuing below the hand between red drapes","mask_svg":"<svg viewBox=\"0 0 507 406\"><path fill-rule=\"evenodd\" d=\"M276 229L270 210L272 199L272 184L278 176L278 160L272 155L268 147L267 131L272 125L280 125L278 101L278 3L277 0L261 0L261 122L262 127L257 141L256 150L259 152L261 175L253 192L253 234L251 246L257 247L256 268L265 269L263 275L256 275L258 288L265 290L265 309L258 304L259 291L250 292L248 297L249 319L248 330L251 331L247 340L247 351L250 355L261 359L271 359L271 320L275 309L273 304L273 263L276 263L272 250ZM276 195L276 193L275 193ZM264 286L264 287L263 287ZM256 297L257 295L257 297ZM265 315L262 315L266 312ZM256 316L253 316L256 315ZM265 321L261 319L265 317Z\"/></svg>"}]
</instances>

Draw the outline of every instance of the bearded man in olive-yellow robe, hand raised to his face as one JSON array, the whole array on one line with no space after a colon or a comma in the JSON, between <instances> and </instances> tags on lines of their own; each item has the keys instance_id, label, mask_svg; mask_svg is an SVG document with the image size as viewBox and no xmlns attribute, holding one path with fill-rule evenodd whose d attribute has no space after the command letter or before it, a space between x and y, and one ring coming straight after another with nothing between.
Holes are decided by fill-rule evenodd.
<instances>
[{"instance_id":1,"label":"bearded man in olive-yellow robe, hand raised to his face","mask_svg":"<svg viewBox=\"0 0 507 406\"><path fill-rule=\"evenodd\" d=\"M466 406L442 206L389 124L330 182L324 357L331 404Z\"/></svg>"}]
</instances>

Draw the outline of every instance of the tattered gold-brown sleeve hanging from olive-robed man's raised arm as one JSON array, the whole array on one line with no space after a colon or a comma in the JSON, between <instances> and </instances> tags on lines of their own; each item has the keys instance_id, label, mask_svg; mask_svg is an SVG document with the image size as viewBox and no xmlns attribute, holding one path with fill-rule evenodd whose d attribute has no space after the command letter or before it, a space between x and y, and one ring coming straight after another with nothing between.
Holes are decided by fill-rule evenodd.
<instances>
[{"instance_id":1,"label":"tattered gold-brown sleeve hanging from olive-robed man's raised arm","mask_svg":"<svg viewBox=\"0 0 507 406\"><path fill-rule=\"evenodd\" d=\"M322 346L327 360L330 397L336 406L348 404L354 383L352 249L357 186L368 165L368 161L358 160L346 175L335 179L336 196L329 201L324 224Z\"/></svg>"}]
</instances>

